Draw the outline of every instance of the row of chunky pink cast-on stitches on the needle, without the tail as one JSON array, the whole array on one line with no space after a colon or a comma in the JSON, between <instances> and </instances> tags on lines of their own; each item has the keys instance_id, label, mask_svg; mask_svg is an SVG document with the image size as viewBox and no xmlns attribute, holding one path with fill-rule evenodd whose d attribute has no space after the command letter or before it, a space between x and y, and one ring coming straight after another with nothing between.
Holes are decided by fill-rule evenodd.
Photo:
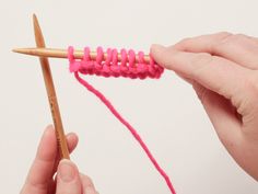
<instances>
[{"instance_id":1,"label":"row of chunky pink cast-on stitches on the needle, without the tail","mask_svg":"<svg viewBox=\"0 0 258 194\"><path fill-rule=\"evenodd\" d=\"M120 50L121 61L118 62L117 49L108 48L106 50L106 59L104 60L104 50L102 47L96 49L96 59L90 56L90 48L84 48L84 57L82 60L74 60L73 47L68 48L68 58L70 60L70 71L80 71L83 75L96 75L103 77L126 77L126 78L153 78L159 79L164 68L154 62L150 57L150 62L144 60L143 52L136 55L134 50ZM138 62L136 57L138 56Z\"/></svg>"}]
</instances>

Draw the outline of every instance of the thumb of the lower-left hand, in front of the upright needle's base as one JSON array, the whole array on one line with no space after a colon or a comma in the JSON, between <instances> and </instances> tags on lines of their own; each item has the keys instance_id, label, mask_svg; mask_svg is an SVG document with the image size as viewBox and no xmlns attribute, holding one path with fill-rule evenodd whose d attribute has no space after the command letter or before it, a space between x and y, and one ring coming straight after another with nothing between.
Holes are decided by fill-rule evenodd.
<instances>
[{"instance_id":1,"label":"thumb of the lower-left hand, in front of the upright needle's base","mask_svg":"<svg viewBox=\"0 0 258 194\"><path fill-rule=\"evenodd\" d=\"M81 194L82 184L77 166L70 160L60 161L57 170L56 194Z\"/></svg>"}]
</instances>

